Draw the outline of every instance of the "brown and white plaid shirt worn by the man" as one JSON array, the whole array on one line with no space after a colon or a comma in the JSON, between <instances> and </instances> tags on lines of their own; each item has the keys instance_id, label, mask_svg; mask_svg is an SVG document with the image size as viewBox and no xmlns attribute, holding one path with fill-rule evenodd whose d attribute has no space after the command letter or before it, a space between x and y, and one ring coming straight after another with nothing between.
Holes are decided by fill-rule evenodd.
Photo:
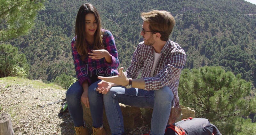
<instances>
[{"instance_id":1,"label":"brown and white plaid shirt worn by the man","mask_svg":"<svg viewBox=\"0 0 256 135\"><path fill-rule=\"evenodd\" d=\"M127 77L137 78L139 73L145 81L145 90L159 90L168 86L174 94L174 107L179 107L178 86L180 73L186 64L186 53L179 44L168 40L161 50L161 57L151 76L154 63L153 46L139 43L126 70Z\"/></svg>"}]
</instances>

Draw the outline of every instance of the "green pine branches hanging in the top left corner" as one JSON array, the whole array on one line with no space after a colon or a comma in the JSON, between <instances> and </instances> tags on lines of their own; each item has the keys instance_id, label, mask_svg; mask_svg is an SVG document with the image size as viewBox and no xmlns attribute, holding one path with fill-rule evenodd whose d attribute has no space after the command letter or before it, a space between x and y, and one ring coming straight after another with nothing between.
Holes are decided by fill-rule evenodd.
<instances>
[{"instance_id":1,"label":"green pine branches hanging in the top left corner","mask_svg":"<svg viewBox=\"0 0 256 135\"><path fill-rule=\"evenodd\" d=\"M0 0L0 40L27 34L44 0Z\"/></svg>"}]
</instances>

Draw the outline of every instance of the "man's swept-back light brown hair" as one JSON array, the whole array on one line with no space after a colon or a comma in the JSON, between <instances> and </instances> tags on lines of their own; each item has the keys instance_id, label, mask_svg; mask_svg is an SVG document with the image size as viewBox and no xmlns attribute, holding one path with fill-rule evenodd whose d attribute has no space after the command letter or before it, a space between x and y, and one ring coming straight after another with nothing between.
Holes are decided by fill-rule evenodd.
<instances>
[{"instance_id":1,"label":"man's swept-back light brown hair","mask_svg":"<svg viewBox=\"0 0 256 135\"><path fill-rule=\"evenodd\" d=\"M143 21L149 23L150 31L161 34L161 40L167 41L175 25L175 20L170 12L152 10L140 14Z\"/></svg>"}]
</instances>

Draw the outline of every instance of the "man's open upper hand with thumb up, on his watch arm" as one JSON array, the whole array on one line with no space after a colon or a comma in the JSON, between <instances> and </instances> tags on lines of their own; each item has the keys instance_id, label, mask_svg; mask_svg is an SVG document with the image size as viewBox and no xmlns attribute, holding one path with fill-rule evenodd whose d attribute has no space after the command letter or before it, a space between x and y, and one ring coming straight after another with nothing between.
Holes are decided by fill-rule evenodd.
<instances>
[{"instance_id":1,"label":"man's open upper hand with thumb up, on his watch arm","mask_svg":"<svg viewBox=\"0 0 256 135\"><path fill-rule=\"evenodd\" d=\"M104 80L106 82L115 83L118 85L126 86L129 84L129 79L124 75L123 67L119 68L119 75L110 76L110 77L102 77L98 76L100 80Z\"/></svg>"}]
</instances>

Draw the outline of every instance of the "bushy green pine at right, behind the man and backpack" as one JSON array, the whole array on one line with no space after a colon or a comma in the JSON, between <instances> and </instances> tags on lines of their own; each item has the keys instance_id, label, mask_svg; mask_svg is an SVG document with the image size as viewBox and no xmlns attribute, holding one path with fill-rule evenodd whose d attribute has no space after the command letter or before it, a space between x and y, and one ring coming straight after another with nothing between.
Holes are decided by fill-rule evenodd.
<instances>
[{"instance_id":1,"label":"bushy green pine at right, behind the man and backpack","mask_svg":"<svg viewBox=\"0 0 256 135\"><path fill-rule=\"evenodd\" d=\"M184 69L180 76L182 104L195 108L196 117L209 119L223 134L234 134L236 118L252 110L251 102L244 99L250 91L250 82L220 67Z\"/></svg>"}]
</instances>

